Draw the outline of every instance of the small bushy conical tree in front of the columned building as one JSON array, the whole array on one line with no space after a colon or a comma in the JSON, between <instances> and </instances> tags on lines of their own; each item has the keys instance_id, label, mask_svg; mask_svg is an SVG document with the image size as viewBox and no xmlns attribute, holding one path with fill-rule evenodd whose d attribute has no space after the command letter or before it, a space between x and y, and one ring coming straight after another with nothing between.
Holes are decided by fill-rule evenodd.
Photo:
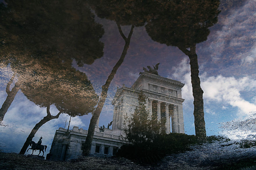
<instances>
[{"instance_id":1,"label":"small bushy conical tree in front of the columned building","mask_svg":"<svg viewBox=\"0 0 256 170\"><path fill-rule=\"evenodd\" d=\"M146 108L147 96L142 92L138 95L138 105L134 113L126 115L124 120L124 137L131 145L147 145L154 141L160 134L160 121L157 120L157 114L149 116L149 110Z\"/></svg>"}]
</instances>

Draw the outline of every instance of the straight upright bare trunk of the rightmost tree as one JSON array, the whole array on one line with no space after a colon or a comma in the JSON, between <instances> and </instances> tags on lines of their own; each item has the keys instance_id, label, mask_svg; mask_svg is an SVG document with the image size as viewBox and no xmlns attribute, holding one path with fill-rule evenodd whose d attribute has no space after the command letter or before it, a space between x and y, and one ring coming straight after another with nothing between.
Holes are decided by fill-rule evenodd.
<instances>
[{"instance_id":1,"label":"straight upright bare trunk of the rightmost tree","mask_svg":"<svg viewBox=\"0 0 256 170\"><path fill-rule=\"evenodd\" d=\"M195 121L195 136L198 137L200 142L206 141L205 118L204 118L204 101L203 90L200 87L198 59L195 51L195 45L190 48L191 68L191 83L194 97L194 121Z\"/></svg>"}]
</instances>

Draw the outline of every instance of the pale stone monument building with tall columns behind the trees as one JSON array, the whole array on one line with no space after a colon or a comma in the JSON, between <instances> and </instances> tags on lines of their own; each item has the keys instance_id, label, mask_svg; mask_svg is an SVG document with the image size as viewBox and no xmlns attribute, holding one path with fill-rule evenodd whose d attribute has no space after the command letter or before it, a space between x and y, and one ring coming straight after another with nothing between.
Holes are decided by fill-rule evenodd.
<instances>
[{"instance_id":1,"label":"pale stone monument building with tall columns behind the trees","mask_svg":"<svg viewBox=\"0 0 256 170\"><path fill-rule=\"evenodd\" d=\"M124 115L131 114L138 105L138 94L142 91L147 97L147 108L150 114L157 114L158 120L165 121L161 127L167 134L184 133L184 120L181 88L183 83L155 74L143 72L131 88L118 88L112 101L114 105L112 129L99 128L99 120L95 126L91 154L97 156L113 156L122 146L120 135ZM171 122L170 122L171 118ZM87 130L74 126L72 130L59 128L56 130L50 153L47 159L69 160L82 154L82 144L85 142Z\"/></svg>"}]
</instances>

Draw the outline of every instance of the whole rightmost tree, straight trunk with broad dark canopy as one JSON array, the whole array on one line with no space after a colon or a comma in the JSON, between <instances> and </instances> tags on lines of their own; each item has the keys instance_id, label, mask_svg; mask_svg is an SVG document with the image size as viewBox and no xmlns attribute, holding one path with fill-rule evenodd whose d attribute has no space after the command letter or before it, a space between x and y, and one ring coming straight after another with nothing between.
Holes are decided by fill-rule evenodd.
<instances>
[{"instance_id":1,"label":"whole rightmost tree, straight trunk with broad dark canopy","mask_svg":"<svg viewBox=\"0 0 256 170\"><path fill-rule=\"evenodd\" d=\"M203 90L200 87L196 44L207 39L209 27L218 21L219 0L153 1L154 11L145 25L152 40L178 47L189 56L194 97L195 134L206 140ZM188 50L189 49L189 50Z\"/></svg>"}]
</instances>

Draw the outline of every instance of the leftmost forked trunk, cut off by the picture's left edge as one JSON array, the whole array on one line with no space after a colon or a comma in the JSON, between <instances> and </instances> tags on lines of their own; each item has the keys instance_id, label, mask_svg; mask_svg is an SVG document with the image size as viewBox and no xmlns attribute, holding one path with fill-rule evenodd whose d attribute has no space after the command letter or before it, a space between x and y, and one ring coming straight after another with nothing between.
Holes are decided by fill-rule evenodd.
<instances>
[{"instance_id":1,"label":"leftmost forked trunk, cut off by the picture's left edge","mask_svg":"<svg viewBox=\"0 0 256 170\"><path fill-rule=\"evenodd\" d=\"M12 91L10 91L10 85L13 83L13 77L10 79L8 84L6 85L6 93L8 96L6 97L6 100L3 102L3 105L0 109L0 122L3 121L4 115L6 114L7 110L9 109L10 105L12 104L17 92L19 91L19 83L16 82Z\"/></svg>"}]
</instances>

